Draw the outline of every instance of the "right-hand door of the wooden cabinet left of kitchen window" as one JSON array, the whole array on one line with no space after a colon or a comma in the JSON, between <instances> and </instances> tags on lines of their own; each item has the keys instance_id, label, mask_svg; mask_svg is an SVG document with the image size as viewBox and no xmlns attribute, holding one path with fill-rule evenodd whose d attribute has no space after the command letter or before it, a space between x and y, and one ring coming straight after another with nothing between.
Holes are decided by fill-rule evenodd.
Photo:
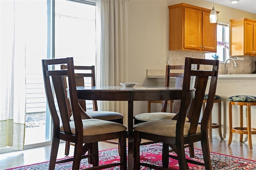
<instances>
[{"instance_id":1,"label":"right-hand door of the wooden cabinet left of kitchen window","mask_svg":"<svg viewBox=\"0 0 256 170\"><path fill-rule=\"evenodd\" d=\"M203 42L202 49L206 51L216 52L217 50L217 23L209 22L210 13L203 12Z\"/></svg>"}]
</instances>

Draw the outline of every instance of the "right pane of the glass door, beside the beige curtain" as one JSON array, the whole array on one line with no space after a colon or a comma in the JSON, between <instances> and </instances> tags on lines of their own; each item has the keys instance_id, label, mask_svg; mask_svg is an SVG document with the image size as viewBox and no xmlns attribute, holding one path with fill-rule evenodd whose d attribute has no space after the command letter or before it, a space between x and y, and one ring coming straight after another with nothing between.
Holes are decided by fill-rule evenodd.
<instances>
[{"instance_id":1,"label":"right pane of the glass door, beside the beige curtain","mask_svg":"<svg viewBox=\"0 0 256 170\"><path fill-rule=\"evenodd\" d=\"M55 1L55 58L73 57L74 65L96 65L95 10L92 2ZM92 101L86 101L86 109L93 109Z\"/></svg>"}]
</instances>

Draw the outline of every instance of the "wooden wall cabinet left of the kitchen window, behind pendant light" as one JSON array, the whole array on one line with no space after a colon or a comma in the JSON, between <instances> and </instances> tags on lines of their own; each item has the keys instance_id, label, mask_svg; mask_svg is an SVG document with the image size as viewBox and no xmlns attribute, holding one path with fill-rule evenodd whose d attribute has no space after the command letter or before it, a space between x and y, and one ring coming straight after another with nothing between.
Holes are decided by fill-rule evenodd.
<instances>
[{"instance_id":1,"label":"wooden wall cabinet left of the kitchen window, behind pendant light","mask_svg":"<svg viewBox=\"0 0 256 170\"><path fill-rule=\"evenodd\" d=\"M190 4L169 8L169 50L216 52L217 24L209 21L210 11Z\"/></svg>"}]
</instances>

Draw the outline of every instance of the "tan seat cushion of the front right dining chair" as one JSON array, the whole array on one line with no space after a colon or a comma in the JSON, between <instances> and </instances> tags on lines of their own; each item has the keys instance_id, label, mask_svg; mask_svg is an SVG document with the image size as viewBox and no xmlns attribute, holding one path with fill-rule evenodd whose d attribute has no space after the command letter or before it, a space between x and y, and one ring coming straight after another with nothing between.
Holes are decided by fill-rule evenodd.
<instances>
[{"instance_id":1,"label":"tan seat cushion of the front right dining chair","mask_svg":"<svg viewBox=\"0 0 256 170\"><path fill-rule=\"evenodd\" d=\"M134 126L134 130L139 132L146 132L150 134L157 134L162 136L176 137L176 120L159 120L139 123ZM188 135L190 123L184 124L184 136ZM179 129L180 130L180 129ZM201 132L201 127L198 125L196 133Z\"/></svg>"}]
</instances>

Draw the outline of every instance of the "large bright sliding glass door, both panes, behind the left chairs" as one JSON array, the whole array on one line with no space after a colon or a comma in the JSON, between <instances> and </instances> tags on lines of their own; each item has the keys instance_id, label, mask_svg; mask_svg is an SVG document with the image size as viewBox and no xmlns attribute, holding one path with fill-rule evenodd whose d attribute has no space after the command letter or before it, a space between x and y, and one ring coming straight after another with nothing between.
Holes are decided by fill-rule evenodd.
<instances>
[{"instance_id":1,"label":"large bright sliding glass door, both panes, behind the left chairs","mask_svg":"<svg viewBox=\"0 0 256 170\"><path fill-rule=\"evenodd\" d=\"M32 36L31 39L34 41L29 43L30 49L36 48L37 51L34 51L34 55L26 55L25 145L50 141L52 131L50 113L46 109L41 63L41 60L46 59L47 56L47 8L46 1L39 2L44 5L37 4L37 6L29 8L36 9L34 13L38 13L37 18L34 18L36 22L33 22L38 35ZM74 65L96 65L95 10L95 3L92 2L83 0L55 1L55 17L53 16L55 32L51 33L54 37L55 56L53 58L74 57ZM38 37L42 37L41 40L45 41L39 41ZM86 104L89 106L87 109L90 110L92 102ZM35 134L40 135L35 138Z\"/></svg>"}]
</instances>

